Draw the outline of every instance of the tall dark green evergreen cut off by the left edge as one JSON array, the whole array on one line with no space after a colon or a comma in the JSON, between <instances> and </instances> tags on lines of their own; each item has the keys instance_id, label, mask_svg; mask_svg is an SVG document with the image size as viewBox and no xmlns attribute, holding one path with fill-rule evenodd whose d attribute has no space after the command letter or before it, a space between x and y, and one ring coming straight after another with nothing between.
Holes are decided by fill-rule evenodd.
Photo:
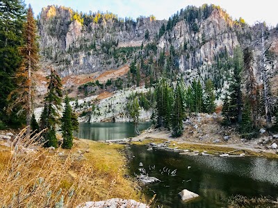
<instances>
[{"instance_id":1,"label":"tall dark green evergreen cut off by the left edge","mask_svg":"<svg viewBox=\"0 0 278 208\"><path fill-rule=\"evenodd\" d=\"M6 123L19 123L14 110L6 114L8 95L15 89L13 74L22 62L19 47L23 44L23 23L26 10L21 0L0 1L0 120Z\"/></svg>"}]
</instances>

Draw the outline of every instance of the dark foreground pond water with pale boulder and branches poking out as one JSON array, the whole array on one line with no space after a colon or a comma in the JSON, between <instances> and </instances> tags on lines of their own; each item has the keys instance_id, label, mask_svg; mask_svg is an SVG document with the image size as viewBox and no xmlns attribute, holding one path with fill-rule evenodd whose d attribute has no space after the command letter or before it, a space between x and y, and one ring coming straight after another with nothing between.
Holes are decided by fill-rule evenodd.
<instances>
[{"instance_id":1,"label":"dark foreground pond water with pale boulder and branches poking out","mask_svg":"<svg viewBox=\"0 0 278 208\"><path fill-rule=\"evenodd\" d=\"M278 197L278 160L260 157L223 158L187 156L161 150L147 151L145 146L131 146L133 157L130 175L140 174L140 162L149 176L162 182L148 184L143 188L152 198L156 193L156 205L163 207L227 207L230 196L238 194L248 197ZM149 166L155 168L150 170ZM188 168L190 166L190 168ZM177 169L170 176L161 171ZM197 200L182 202L179 191L188 189L199 194ZM157 207L157 206L156 206Z\"/></svg>"}]
</instances>

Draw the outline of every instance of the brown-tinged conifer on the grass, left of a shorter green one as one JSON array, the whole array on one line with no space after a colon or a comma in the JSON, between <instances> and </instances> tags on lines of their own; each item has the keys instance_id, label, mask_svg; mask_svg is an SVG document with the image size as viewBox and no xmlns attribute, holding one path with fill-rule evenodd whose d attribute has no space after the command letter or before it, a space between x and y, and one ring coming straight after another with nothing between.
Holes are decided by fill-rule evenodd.
<instances>
[{"instance_id":1,"label":"brown-tinged conifer on the grass, left of a shorter green one","mask_svg":"<svg viewBox=\"0 0 278 208\"><path fill-rule=\"evenodd\" d=\"M48 87L47 87L47 96L44 98L44 110L42 111L42 115L40 117L40 128L46 129L47 131L44 133L44 139L46 142L46 146L54 146L57 147L57 138L55 135L56 124L58 124L58 117L61 103L62 103L62 80L58 73L51 69L51 74L47 76L48 79Z\"/></svg>"}]
</instances>

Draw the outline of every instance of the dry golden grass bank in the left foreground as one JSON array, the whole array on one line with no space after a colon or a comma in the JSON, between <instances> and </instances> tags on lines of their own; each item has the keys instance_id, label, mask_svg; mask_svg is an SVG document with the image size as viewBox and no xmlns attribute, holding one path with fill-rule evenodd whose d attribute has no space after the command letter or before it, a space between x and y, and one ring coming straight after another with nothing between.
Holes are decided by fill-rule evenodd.
<instances>
[{"instance_id":1,"label":"dry golden grass bank in the left foreground","mask_svg":"<svg viewBox=\"0 0 278 208\"><path fill-rule=\"evenodd\" d=\"M0 148L0 207L76 207L108 198L140 199L124 178L123 146L76 140L72 150L38 146L24 130ZM63 152L63 155L58 153Z\"/></svg>"}]
</instances>

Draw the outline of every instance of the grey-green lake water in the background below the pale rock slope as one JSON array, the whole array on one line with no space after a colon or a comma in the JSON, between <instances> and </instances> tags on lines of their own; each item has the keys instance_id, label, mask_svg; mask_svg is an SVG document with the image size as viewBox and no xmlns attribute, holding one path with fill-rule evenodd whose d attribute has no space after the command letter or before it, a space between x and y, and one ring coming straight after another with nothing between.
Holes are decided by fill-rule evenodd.
<instances>
[{"instance_id":1,"label":"grey-green lake water in the background below the pale rock slope","mask_svg":"<svg viewBox=\"0 0 278 208\"><path fill-rule=\"evenodd\" d=\"M145 130L152 125L151 122L139 123L139 130ZM80 123L79 132L75 137L81 139L111 140L124 139L136 136L133 123Z\"/></svg>"}]
</instances>

